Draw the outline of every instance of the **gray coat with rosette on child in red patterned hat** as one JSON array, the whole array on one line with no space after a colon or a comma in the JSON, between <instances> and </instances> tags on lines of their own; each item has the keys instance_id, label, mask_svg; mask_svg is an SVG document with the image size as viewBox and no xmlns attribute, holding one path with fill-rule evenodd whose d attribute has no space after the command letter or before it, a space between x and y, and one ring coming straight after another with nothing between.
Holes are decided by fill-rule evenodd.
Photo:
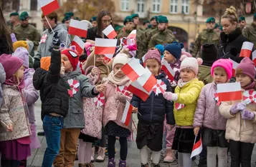
<instances>
[{"instance_id":1,"label":"gray coat with rosette on child in red patterned hat","mask_svg":"<svg viewBox=\"0 0 256 167\"><path fill-rule=\"evenodd\" d=\"M65 80L72 85L70 79L73 81L78 81L80 84L77 87L76 93L70 96L69 100L69 110L67 112L67 116L64 118L64 126L63 128L85 128L85 118L82 108L82 97L93 98L98 95L98 93L94 93L95 86L92 86L89 82L87 76L81 74L80 69L78 68L76 71L72 71L65 76Z\"/></svg>"}]
</instances>

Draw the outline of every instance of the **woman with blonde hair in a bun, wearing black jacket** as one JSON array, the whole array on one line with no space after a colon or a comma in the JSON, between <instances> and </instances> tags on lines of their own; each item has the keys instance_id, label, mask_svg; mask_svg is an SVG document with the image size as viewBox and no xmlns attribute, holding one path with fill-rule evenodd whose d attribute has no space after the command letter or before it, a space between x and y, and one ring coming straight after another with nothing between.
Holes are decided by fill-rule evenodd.
<instances>
[{"instance_id":1,"label":"woman with blonde hair in a bun, wearing black jacket","mask_svg":"<svg viewBox=\"0 0 256 167\"><path fill-rule=\"evenodd\" d=\"M242 31L237 27L238 16L234 6L226 9L222 16L223 31L220 34L221 44L218 49L218 57L224 59L232 59L240 63L243 57L240 57L240 51L244 41L248 41L242 35Z\"/></svg>"}]
</instances>

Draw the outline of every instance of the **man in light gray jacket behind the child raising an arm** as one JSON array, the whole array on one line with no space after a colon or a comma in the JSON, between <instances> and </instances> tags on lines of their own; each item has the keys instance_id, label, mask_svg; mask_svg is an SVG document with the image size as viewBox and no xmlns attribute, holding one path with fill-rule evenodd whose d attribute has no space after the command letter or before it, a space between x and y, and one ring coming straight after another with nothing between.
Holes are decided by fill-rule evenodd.
<instances>
[{"instance_id":1,"label":"man in light gray jacket behind the child raising an arm","mask_svg":"<svg viewBox=\"0 0 256 167\"><path fill-rule=\"evenodd\" d=\"M42 57L51 56L52 38L54 36L52 30L54 32L58 32L58 36L60 37L60 41L62 43L66 44L66 41L67 41L66 46L70 44L70 36L67 36L68 34L64 26L62 24L57 24L57 20L58 20L57 13L54 11L51 14L48 14L46 17L47 17L47 20L49 21L49 24L47 23L47 20L44 14L42 14L42 23L46 30L42 34L42 38L38 47L38 52L34 56L34 69L37 69L40 67L40 59Z\"/></svg>"}]
</instances>

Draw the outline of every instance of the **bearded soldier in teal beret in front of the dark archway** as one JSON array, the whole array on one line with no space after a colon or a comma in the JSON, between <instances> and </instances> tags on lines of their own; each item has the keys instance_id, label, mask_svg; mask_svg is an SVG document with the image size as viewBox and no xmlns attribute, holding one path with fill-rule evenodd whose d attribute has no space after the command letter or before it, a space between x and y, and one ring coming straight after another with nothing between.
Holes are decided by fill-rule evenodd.
<instances>
[{"instance_id":1,"label":"bearded soldier in teal beret in front of the dark archway","mask_svg":"<svg viewBox=\"0 0 256 167\"><path fill-rule=\"evenodd\" d=\"M151 37L148 49L154 48L157 44L171 44L176 40L172 31L168 30L168 19L166 16L158 16L158 32Z\"/></svg>"}]
</instances>

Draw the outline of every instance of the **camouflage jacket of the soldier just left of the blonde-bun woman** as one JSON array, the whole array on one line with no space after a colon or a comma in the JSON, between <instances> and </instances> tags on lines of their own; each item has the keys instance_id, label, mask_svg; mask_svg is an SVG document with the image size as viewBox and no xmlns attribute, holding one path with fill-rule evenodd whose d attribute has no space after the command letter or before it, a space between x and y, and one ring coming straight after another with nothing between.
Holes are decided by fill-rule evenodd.
<instances>
[{"instance_id":1,"label":"camouflage jacket of the soldier just left of the blonde-bun woman","mask_svg":"<svg viewBox=\"0 0 256 167\"><path fill-rule=\"evenodd\" d=\"M213 31L213 29L205 29L197 36L191 55L193 57L196 57L197 53L201 50L201 46L203 46L204 44L214 44L218 48L219 41L219 33ZM199 57L201 57L201 54Z\"/></svg>"}]
</instances>

